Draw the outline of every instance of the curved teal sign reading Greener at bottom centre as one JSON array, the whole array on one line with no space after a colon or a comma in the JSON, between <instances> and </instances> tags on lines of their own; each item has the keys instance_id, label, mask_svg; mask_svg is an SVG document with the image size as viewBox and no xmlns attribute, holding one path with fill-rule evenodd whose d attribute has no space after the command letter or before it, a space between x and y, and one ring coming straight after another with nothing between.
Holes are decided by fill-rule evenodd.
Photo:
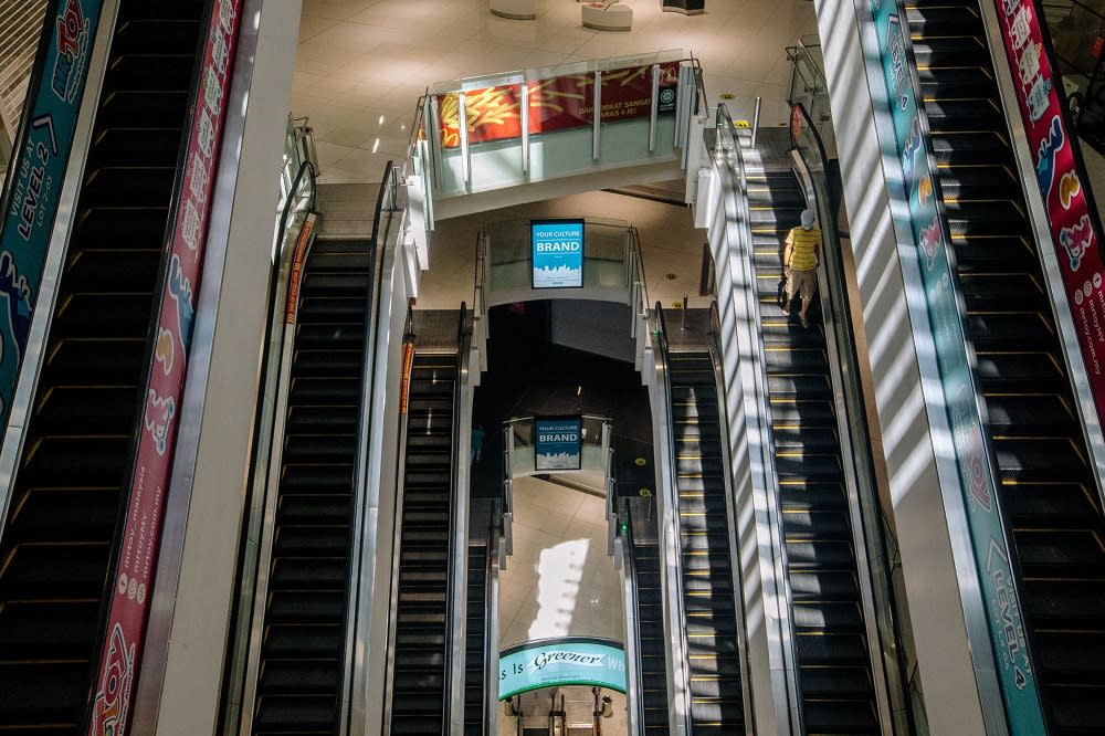
<instances>
[{"instance_id":1,"label":"curved teal sign reading Greener at bottom centre","mask_svg":"<svg viewBox=\"0 0 1105 736\"><path fill-rule=\"evenodd\" d=\"M625 692L625 651L608 639L543 639L504 649L498 656L498 700L560 685Z\"/></svg>"}]
</instances>

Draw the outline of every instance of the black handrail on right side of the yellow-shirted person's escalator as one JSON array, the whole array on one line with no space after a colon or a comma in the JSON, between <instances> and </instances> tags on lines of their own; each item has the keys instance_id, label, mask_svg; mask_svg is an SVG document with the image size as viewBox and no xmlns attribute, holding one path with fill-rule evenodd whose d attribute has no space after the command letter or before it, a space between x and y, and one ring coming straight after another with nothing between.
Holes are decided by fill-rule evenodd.
<instances>
[{"instance_id":1,"label":"black handrail on right side of the yellow-shirted person's escalator","mask_svg":"<svg viewBox=\"0 0 1105 736\"><path fill-rule=\"evenodd\" d=\"M828 156L821 135L813 126L804 105L797 103L794 108L799 111L804 127L810 132L817 144L818 166L827 177ZM855 328L851 319L852 305L849 297L846 278L844 275L844 256L840 233L836 228L835 213L832 211L829 198L829 182L823 181L824 197L818 191L813 182L813 172L809 162L802 155L800 146L794 147L793 154L798 156L806 166L810 177L812 191L804 192L807 206L810 206L812 198L812 209L818 214L818 222L822 225L821 232L823 243L821 248L822 263L824 267L818 269L818 298L821 301L821 311L825 319L832 325L832 330L825 332L825 344L829 350L829 375L833 386L834 403L836 404L836 422L841 444L841 460L846 472L844 474L845 488L849 494L849 507L859 506L859 518L853 518L853 525L859 529L853 529L852 536L855 544L857 574L866 578L866 585L871 588L874 606L865 610L866 617L874 619L874 637L872 644L881 643L875 651L875 646L869 646L872 666L872 675L876 679L876 692L885 690L890 708L881 711L882 721L891 723L894 714L903 714L905 728L914 727L913 703L906 696L902 673L907 672L905 660L905 648L901 645L899 617L897 606L892 592L893 582L891 580L891 568L888 565L882 566L882 574L877 574L870 564L869 557L888 560L890 555L886 549L886 533L884 529L893 529L893 523L886 517L885 509L878 502L877 480L875 473L874 453L871 450L871 433L867 424L867 406L861 386L860 356L855 345ZM800 177L801 178L801 177ZM872 555L867 555L867 550ZM861 562L861 550L863 560ZM861 589L863 583L861 582ZM878 654L882 654L880 656ZM887 664L884 661L891 660ZM878 677L880 671L882 677ZM881 683L881 687L880 684Z\"/></svg>"}]
</instances>

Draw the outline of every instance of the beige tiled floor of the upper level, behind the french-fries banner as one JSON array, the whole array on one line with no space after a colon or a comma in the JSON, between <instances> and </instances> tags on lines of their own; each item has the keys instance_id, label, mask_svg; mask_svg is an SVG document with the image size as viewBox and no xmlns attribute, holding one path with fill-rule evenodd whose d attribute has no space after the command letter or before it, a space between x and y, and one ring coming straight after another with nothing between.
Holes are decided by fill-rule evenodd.
<instances>
[{"instance_id":1,"label":"beige tiled floor of the upper level, behind the french-fries banner","mask_svg":"<svg viewBox=\"0 0 1105 736\"><path fill-rule=\"evenodd\" d=\"M419 95L477 74L682 49L702 60L707 95L734 118L764 98L762 124L786 120L783 49L815 31L807 0L707 0L706 12L622 0L633 30L585 29L576 0L537 0L532 21L492 15L487 0L304 0L292 113L315 128L324 182L375 182L406 159Z\"/></svg>"}]
</instances>

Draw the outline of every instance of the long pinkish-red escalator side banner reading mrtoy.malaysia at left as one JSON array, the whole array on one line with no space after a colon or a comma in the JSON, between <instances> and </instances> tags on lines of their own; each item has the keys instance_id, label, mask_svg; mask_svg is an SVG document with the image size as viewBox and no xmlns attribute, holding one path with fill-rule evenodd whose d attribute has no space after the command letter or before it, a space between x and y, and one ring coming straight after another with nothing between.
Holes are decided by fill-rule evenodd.
<instances>
[{"instance_id":1,"label":"long pinkish-red escalator side banner reading mrtoy.malaysia at left","mask_svg":"<svg viewBox=\"0 0 1105 736\"><path fill-rule=\"evenodd\" d=\"M92 736L127 733L137 685L241 6L242 0L214 1L201 56L123 546L115 560L115 585L96 670Z\"/></svg>"}]
</instances>

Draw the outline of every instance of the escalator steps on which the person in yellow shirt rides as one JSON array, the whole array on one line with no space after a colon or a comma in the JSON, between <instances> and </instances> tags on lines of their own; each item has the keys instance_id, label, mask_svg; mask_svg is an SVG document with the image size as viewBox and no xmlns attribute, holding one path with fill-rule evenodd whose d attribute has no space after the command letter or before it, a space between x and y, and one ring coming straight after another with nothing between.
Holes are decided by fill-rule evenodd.
<instances>
[{"instance_id":1,"label":"escalator steps on which the person in yellow shirt rides","mask_svg":"<svg viewBox=\"0 0 1105 736\"><path fill-rule=\"evenodd\" d=\"M748 208L802 718L810 734L877 734L860 596L865 571L856 564L821 301L807 314L809 329L799 324L799 302L788 317L777 301L783 243L806 198L783 155L786 132L760 133L758 149L745 153Z\"/></svg>"}]
</instances>

